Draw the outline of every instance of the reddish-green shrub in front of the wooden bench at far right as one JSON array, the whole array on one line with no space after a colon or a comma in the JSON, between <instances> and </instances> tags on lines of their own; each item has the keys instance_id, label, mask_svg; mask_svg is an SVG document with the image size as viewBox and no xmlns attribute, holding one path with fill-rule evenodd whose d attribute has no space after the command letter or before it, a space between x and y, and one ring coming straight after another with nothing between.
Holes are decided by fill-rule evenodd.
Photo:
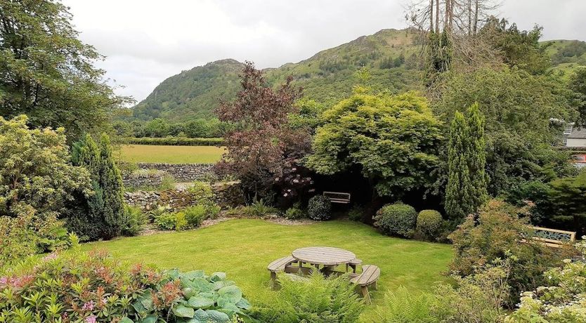
<instances>
[{"instance_id":1,"label":"reddish-green shrub in front of the wooden bench at far right","mask_svg":"<svg viewBox=\"0 0 586 323\"><path fill-rule=\"evenodd\" d=\"M521 291L541 286L542 273L573 252L566 248L554 250L533 240L521 243L533 233L528 220L519 218L523 213L526 210L492 200L480 209L478 218L469 216L449 237L455 248L450 269L464 277L497 259L514 259L509 272L509 306L519 300Z\"/></svg>"}]
</instances>

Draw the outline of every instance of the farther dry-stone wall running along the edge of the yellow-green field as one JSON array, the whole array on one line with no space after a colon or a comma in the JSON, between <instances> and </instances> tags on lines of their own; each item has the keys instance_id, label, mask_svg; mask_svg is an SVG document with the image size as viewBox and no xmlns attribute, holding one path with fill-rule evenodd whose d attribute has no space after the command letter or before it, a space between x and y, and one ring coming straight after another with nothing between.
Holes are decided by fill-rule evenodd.
<instances>
[{"instance_id":1,"label":"farther dry-stone wall running along the edge of the yellow-green field","mask_svg":"<svg viewBox=\"0 0 586 323\"><path fill-rule=\"evenodd\" d=\"M139 169L157 169L173 176L178 182L193 182L194 180L209 180L214 178L214 164L162 164L138 163Z\"/></svg>"}]
</instances>

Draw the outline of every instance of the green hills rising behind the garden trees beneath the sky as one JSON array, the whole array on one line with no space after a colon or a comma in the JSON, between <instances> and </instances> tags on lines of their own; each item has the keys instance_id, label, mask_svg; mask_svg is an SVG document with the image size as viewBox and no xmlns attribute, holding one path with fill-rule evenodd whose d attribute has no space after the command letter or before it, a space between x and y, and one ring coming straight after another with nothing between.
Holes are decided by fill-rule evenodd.
<instances>
[{"instance_id":1,"label":"green hills rising behind the garden trees beneath the sky","mask_svg":"<svg viewBox=\"0 0 586 323\"><path fill-rule=\"evenodd\" d=\"M421 86L421 72L417 69L419 47L414 38L412 29L383 29L301 62L266 69L266 77L272 84L279 84L291 75L294 84L304 88L306 97L326 105L349 95L356 84L393 92L417 89ZM554 40L544 44L548 45L546 51L554 70L569 75L575 67L586 65L584 41ZM363 67L370 75L366 80L358 77ZM237 74L241 69L242 62L227 59L169 77L134 107L130 119L160 117L180 122L211 118L219 100L229 100L238 91Z\"/></svg>"}]
</instances>

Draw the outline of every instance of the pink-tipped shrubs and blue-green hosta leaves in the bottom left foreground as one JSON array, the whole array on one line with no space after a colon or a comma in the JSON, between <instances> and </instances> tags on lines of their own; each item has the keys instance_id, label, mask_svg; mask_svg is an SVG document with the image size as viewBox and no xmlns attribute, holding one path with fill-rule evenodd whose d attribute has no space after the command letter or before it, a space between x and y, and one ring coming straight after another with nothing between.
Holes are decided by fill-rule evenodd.
<instances>
[{"instance_id":1,"label":"pink-tipped shrubs and blue-green hosta leaves in the bottom left foreground","mask_svg":"<svg viewBox=\"0 0 586 323\"><path fill-rule=\"evenodd\" d=\"M223 272L129 266L105 251L51 253L0 273L0 322L230 322L250 306Z\"/></svg>"}]
</instances>

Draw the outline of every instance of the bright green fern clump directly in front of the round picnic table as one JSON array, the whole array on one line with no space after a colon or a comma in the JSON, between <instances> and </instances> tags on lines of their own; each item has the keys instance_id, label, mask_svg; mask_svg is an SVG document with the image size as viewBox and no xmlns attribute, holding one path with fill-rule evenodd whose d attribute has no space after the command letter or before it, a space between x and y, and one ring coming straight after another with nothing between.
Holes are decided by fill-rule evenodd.
<instances>
[{"instance_id":1,"label":"bright green fern clump directly in front of the round picnic table","mask_svg":"<svg viewBox=\"0 0 586 323\"><path fill-rule=\"evenodd\" d=\"M266 295L251 316L259 322L357 322L365 306L347 277L324 278L319 273L308 281L280 279L277 295Z\"/></svg>"}]
</instances>

